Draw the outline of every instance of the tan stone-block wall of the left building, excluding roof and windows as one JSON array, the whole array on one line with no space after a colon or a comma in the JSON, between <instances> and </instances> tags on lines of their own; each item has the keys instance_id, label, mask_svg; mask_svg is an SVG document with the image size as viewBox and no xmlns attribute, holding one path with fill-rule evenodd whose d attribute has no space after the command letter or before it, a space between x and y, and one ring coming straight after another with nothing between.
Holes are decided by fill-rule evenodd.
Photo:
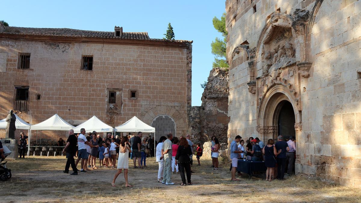
<instances>
[{"instance_id":1,"label":"tan stone-block wall of the left building, excluding roof and windows","mask_svg":"<svg viewBox=\"0 0 361 203\"><path fill-rule=\"evenodd\" d=\"M17 68L19 53L30 53L30 69ZM29 86L29 111L19 116L30 124L55 113L73 125L95 115L111 126L133 116L151 125L157 116L167 115L177 134L186 134L191 54L190 43L182 48L1 39L0 118L14 108L15 86ZM83 55L93 56L93 70L81 70ZM116 92L116 104L108 103L109 91ZM66 133L32 135L57 140Z\"/></svg>"}]
</instances>

